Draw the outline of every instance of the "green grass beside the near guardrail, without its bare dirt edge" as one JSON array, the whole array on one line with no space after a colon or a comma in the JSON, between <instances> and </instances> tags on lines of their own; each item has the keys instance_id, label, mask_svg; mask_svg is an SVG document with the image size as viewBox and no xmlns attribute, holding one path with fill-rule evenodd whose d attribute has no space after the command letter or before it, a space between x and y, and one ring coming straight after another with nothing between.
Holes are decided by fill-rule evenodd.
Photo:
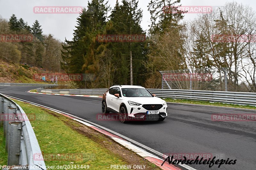
<instances>
[{"instance_id":1,"label":"green grass beside the near guardrail, without its bare dirt edge","mask_svg":"<svg viewBox=\"0 0 256 170\"><path fill-rule=\"evenodd\" d=\"M60 118L50 114L50 111L46 112L40 107L20 101L16 102L27 115L35 114L35 120L30 122L43 155L48 157L52 154L54 157L59 156L61 158L60 160L50 160L49 158L49 160L45 160L46 165L55 167L57 165L89 165L90 169L110 169L111 164L127 164L118 155L109 152L90 138L71 129ZM78 123L77 126L79 126ZM80 159L81 155L82 159ZM65 156L71 158L66 160Z\"/></svg>"}]
</instances>

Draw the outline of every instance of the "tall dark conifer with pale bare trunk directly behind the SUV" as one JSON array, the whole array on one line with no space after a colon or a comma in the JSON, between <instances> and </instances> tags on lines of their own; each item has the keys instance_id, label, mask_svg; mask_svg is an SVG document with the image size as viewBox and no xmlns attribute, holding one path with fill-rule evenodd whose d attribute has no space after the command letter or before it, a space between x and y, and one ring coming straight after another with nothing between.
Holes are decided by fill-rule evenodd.
<instances>
[{"instance_id":1,"label":"tall dark conifer with pale bare trunk directly behind the SUV","mask_svg":"<svg viewBox=\"0 0 256 170\"><path fill-rule=\"evenodd\" d=\"M123 0L122 4L116 2L116 6L110 15L112 29L108 34L145 34L140 26L142 20L142 10L138 8L137 0ZM119 84L138 84L144 82L144 69L142 63L146 62L145 43L144 42L112 42L109 43L116 65L119 69L116 71ZM132 57L131 57L132 55ZM131 58L133 62L131 62ZM132 63L132 64L131 64ZM130 67L132 65L133 78L131 79Z\"/></svg>"}]
</instances>

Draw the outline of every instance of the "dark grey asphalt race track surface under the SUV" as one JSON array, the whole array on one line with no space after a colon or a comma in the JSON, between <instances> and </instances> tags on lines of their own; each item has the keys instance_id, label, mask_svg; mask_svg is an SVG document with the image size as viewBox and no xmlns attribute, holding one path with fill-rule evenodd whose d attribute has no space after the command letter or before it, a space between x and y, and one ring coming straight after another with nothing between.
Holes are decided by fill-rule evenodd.
<instances>
[{"instance_id":1,"label":"dark grey asphalt race track surface under the SUV","mask_svg":"<svg viewBox=\"0 0 256 170\"><path fill-rule=\"evenodd\" d=\"M129 137L158 152L169 154L211 154L224 159L237 159L235 165L189 165L207 169L256 169L256 122L214 122L211 114L256 114L256 111L186 104L168 104L164 122L98 120L101 99L28 93L35 86L0 86L0 93L28 100L76 115ZM46 125L47 126L47 125Z\"/></svg>"}]
</instances>

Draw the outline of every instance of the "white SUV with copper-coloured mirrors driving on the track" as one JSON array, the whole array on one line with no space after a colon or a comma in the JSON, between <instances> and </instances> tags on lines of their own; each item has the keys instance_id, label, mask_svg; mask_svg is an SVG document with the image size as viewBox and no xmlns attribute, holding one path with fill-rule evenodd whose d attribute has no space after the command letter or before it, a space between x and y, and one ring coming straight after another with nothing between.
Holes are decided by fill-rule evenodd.
<instances>
[{"instance_id":1,"label":"white SUV with copper-coloured mirrors driving on the track","mask_svg":"<svg viewBox=\"0 0 256 170\"><path fill-rule=\"evenodd\" d=\"M167 104L151 94L146 88L136 85L114 85L103 94L102 114L118 113L120 121L163 121L167 117Z\"/></svg>"}]
</instances>

